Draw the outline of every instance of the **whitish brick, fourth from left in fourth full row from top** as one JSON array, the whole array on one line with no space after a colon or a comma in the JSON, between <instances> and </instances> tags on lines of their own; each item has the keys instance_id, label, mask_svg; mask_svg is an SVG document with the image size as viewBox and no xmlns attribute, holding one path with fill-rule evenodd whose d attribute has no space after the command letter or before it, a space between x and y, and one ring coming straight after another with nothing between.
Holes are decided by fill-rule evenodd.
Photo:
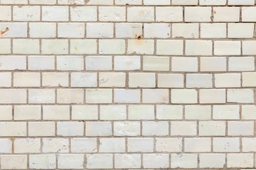
<instances>
[{"instance_id":1,"label":"whitish brick, fourth from left in fourth full row from top","mask_svg":"<svg viewBox=\"0 0 256 170\"><path fill-rule=\"evenodd\" d=\"M86 71L112 70L111 56L88 56L85 57Z\"/></svg>"}]
</instances>

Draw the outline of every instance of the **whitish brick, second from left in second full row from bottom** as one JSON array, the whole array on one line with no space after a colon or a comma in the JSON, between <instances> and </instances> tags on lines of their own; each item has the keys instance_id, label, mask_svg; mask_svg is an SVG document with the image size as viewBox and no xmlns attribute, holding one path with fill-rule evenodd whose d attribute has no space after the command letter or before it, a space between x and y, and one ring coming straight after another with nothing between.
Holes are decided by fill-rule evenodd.
<instances>
[{"instance_id":1,"label":"whitish brick, second from left in second full row from bottom","mask_svg":"<svg viewBox=\"0 0 256 170\"><path fill-rule=\"evenodd\" d=\"M14 153L41 153L40 139L15 139Z\"/></svg>"}]
</instances>

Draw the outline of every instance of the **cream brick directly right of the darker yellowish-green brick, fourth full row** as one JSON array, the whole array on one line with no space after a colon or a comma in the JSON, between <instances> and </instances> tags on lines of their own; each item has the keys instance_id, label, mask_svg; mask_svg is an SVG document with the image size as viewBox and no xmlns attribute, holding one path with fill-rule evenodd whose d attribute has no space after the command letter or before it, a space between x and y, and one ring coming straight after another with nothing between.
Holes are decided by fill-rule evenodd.
<instances>
[{"instance_id":1,"label":"cream brick directly right of the darker yellowish-green brick, fourth full row","mask_svg":"<svg viewBox=\"0 0 256 170\"><path fill-rule=\"evenodd\" d=\"M197 72L198 58L196 57L172 57L172 71Z\"/></svg>"}]
</instances>

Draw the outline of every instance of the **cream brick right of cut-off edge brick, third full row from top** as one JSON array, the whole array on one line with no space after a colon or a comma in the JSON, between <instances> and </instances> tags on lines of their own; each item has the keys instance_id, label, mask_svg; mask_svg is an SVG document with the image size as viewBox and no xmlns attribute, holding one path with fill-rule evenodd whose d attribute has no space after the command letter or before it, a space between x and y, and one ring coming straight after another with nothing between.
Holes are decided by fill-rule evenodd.
<instances>
[{"instance_id":1,"label":"cream brick right of cut-off edge brick, third full row from top","mask_svg":"<svg viewBox=\"0 0 256 170\"><path fill-rule=\"evenodd\" d=\"M39 54L39 40L35 39L14 39L14 54Z\"/></svg>"}]
</instances>

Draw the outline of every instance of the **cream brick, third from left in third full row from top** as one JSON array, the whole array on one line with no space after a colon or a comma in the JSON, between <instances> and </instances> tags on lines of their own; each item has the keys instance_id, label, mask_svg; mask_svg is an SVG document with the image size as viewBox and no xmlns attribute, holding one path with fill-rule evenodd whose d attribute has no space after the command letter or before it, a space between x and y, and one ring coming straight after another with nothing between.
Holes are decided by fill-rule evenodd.
<instances>
[{"instance_id":1,"label":"cream brick, third from left in third full row from top","mask_svg":"<svg viewBox=\"0 0 256 170\"><path fill-rule=\"evenodd\" d=\"M68 40L41 40L42 54L68 54Z\"/></svg>"}]
</instances>

